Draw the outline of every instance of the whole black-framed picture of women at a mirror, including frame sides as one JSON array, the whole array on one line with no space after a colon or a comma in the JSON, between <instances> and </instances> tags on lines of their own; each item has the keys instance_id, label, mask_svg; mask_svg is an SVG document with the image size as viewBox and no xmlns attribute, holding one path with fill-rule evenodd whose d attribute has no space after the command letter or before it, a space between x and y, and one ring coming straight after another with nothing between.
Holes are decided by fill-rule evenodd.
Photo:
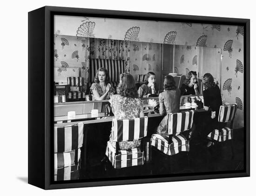
<instances>
[{"instance_id":1,"label":"whole black-framed picture of women at a mirror, including frame sides","mask_svg":"<svg viewBox=\"0 0 256 196\"><path fill-rule=\"evenodd\" d=\"M249 176L249 19L28 13L28 183Z\"/></svg>"}]
</instances>

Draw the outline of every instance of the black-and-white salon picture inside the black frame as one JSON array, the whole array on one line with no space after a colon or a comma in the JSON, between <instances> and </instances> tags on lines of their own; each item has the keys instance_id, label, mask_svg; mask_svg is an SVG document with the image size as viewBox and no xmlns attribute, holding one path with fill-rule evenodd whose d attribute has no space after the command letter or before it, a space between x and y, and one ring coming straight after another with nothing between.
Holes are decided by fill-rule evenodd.
<instances>
[{"instance_id":1,"label":"black-and-white salon picture inside the black frame","mask_svg":"<svg viewBox=\"0 0 256 196\"><path fill-rule=\"evenodd\" d=\"M54 15L54 181L243 171L244 26Z\"/></svg>"}]
</instances>

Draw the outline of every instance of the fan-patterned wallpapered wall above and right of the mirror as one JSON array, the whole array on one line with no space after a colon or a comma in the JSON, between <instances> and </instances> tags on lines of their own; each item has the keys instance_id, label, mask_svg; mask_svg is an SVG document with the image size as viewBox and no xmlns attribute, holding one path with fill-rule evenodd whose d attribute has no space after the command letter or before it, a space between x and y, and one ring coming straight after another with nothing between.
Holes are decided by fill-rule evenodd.
<instances>
[{"instance_id":1,"label":"fan-patterned wallpapered wall above and right of the mirror","mask_svg":"<svg viewBox=\"0 0 256 196\"><path fill-rule=\"evenodd\" d=\"M243 27L73 16L55 16L54 24L56 35L222 48L221 90L238 103L234 126L243 126Z\"/></svg>"}]
</instances>

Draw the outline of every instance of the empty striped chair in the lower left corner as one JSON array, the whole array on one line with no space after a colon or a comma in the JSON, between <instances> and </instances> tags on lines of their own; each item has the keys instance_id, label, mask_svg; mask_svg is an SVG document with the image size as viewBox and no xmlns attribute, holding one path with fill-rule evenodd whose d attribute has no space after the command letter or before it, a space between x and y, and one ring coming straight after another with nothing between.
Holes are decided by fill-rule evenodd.
<instances>
[{"instance_id":1,"label":"empty striped chair in the lower left corner","mask_svg":"<svg viewBox=\"0 0 256 196\"><path fill-rule=\"evenodd\" d=\"M54 127L54 181L79 179L83 127Z\"/></svg>"}]
</instances>

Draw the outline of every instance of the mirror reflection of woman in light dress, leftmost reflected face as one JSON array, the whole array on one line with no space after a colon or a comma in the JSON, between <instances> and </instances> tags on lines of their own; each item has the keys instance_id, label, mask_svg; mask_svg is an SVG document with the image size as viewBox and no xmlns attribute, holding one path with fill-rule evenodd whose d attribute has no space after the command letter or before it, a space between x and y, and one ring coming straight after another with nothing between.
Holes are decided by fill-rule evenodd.
<instances>
[{"instance_id":1,"label":"mirror reflection of woman in light dress, leftmost reflected face","mask_svg":"<svg viewBox=\"0 0 256 196\"><path fill-rule=\"evenodd\" d=\"M101 67L97 71L94 82L90 88L93 100L110 99L110 95L115 94L115 89L109 82L109 74L106 68Z\"/></svg>"}]
</instances>

